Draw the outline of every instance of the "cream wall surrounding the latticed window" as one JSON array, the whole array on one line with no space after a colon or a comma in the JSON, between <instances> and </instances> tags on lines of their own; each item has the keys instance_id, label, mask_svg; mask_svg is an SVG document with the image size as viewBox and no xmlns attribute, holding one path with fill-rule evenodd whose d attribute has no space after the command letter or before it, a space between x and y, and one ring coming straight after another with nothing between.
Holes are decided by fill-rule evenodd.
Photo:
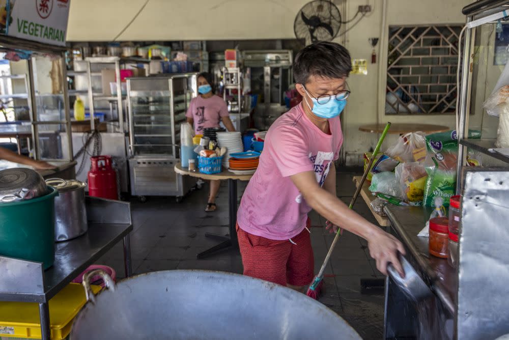
<instances>
[{"instance_id":1,"label":"cream wall surrounding the latticed window","mask_svg":"<svg viewBox=\"0 0 509 340\"><path fill-rule=\"evenodd\" d=\"M359 5L366 0L348 0L346 18L351 18ZM383 0L369 2L373 12L363 18L358 25L346 33L346 47L353 59L371 61L372 47L368 39L379 37L377 46L377 64L368 64L367 75L351 75L348 82L352 95L343 116L343 130L345 132L344 152L347 164L357 164L363 152L375 147L379 135L360 132L360 125L371 123L430 123L455 126L453 115L385 115L385 84L387 65L387 33L389 25L418 25L418 24L461 24L465 16L461 9L470 4L470 0L387 0L385 22L382 27L384 13ZM346 24L350 27L351 24ZM383 34L382 34L383 32ZM383 39L382 39L383 38ZM337 42L343 43L343 37ZM379 72L379 66L382 65ZM380 91L379 91L380 90ZM390 136L384 143L384 148L394 143L397 136Z\"/></svg>"}]
</instances>

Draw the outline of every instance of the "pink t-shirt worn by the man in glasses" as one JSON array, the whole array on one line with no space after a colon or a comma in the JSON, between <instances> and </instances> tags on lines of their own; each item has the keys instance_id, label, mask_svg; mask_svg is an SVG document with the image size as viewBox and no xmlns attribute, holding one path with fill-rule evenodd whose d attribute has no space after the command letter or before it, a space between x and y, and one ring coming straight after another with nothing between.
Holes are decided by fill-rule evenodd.
<instances>
[{"instance_id":1,"label":"pink t-shirt worn by the man in glasses","mask_svg":"<svg viewBox=\"0 0 509 340\"><path fill-rule=\"evenodd\" d=\"M242 196L237 221L244 231L273 240L298 235L306 225L307 205L290 176L313 171L322 186L339 157L343 133L339 117L326 134L301 105L278 118L267 132L260 164Z\"/></svg>"}]
</instances>

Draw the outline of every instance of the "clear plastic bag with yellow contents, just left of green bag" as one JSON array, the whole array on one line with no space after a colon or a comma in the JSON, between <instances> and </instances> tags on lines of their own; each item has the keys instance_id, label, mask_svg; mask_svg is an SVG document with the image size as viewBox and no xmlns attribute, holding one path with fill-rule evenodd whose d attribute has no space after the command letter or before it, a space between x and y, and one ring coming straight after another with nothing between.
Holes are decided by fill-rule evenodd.
<instances>
[{"instance_id":1,"label":"clear plastic bag with yellow contents, just left of green bag","mask_svg":"<svg viewBox=\"0 0 509 340\"><path fill-rule=\"evenodd\" d=\"M409 202L422 201L428 174L419 162L400 163L395 169L400 184L402 198Z\"/></svg>"}]
</instances>

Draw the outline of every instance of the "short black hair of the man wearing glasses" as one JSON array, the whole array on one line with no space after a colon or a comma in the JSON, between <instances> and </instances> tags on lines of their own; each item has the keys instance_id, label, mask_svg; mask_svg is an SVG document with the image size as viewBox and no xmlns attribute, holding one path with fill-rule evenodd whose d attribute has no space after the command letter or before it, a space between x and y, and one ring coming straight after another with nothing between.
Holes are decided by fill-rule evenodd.
<instances>
[{"instance_id":1,"label":"short black hair of the man wearing glasses","mask_svg":"<svg viewBox=\"0 0 509 340\"><path fill-rule=\"evenodd\" d=\"M295 56L293 64L293 77L299 84L305 84L311 75L343 78L348 77L350 71L350 52L344 46L329 41L304 47Z\"/></svg>"}]
</instances>

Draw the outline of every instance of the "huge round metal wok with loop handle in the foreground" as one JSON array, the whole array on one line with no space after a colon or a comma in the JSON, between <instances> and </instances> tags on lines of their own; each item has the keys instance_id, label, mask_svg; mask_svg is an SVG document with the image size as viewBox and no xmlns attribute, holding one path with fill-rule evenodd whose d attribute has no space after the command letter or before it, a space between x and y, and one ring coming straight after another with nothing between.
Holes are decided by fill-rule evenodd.
<instances>
[{"instance_id":1,"label":"huge round metal wok with loop handle in the foreground","mask_svg":"<svg viewBox=\"0 0 509 340\"><path fill-rule=\"evenodd\" d=\"M100 273L107 290L94 296ZM74 319L81 339L360 339L320 302L248 276L167 270L116 285L104 271L83 279L89 302Z\"/></svg>"}]
</instances>

